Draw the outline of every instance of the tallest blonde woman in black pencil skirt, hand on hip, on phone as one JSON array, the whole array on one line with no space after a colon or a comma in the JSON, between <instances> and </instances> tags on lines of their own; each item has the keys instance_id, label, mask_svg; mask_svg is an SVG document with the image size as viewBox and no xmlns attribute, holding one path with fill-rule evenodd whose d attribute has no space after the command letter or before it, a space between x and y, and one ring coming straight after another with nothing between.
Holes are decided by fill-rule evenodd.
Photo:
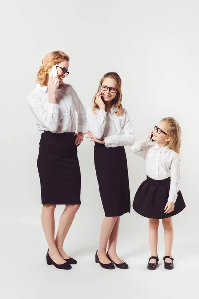
<instances>
[{"instance_id":1,"label":"tallest blonde woman in black pencil skirt, hand on hip, on phone","mask_svg":"<svg viewBox=\"0 0 199 299\"><path fill-rule=\"evenodd\" d=\"M57 75L49 77L56 65ZM69 57L62 51L47 54L37 74L36 88L28 96L41 134L37 160L41 183L42 226L48 243L46 261L59 269L71 269L77 261L63 249L65 237L80 207L81 175L77 146L83 141L86 113L71 85L63 79L69 74ZM76 131L76 115L78 128ZM54 210L65 205L55 238Z\"/></svg>"}]
</instances>

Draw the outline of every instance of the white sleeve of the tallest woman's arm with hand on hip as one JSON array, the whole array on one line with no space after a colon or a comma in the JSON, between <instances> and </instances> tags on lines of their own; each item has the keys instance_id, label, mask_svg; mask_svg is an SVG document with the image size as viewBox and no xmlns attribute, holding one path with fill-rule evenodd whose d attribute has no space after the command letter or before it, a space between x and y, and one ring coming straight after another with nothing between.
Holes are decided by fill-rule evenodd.
<instances>
[{"instance_id":1,"label":"white sleeve of the tallest woman's arm with hand on hip","mask_svg":"<svg viewBox=\"0 0 199 299\"><path fill-rule=\"evenodd\" d=\"M86 132L86 124L87 124L87 118L86 118L86 111L84 108L84 105L82 104L82 102L80 101L77 93L75 92L75 90L72 87L72 95L73 95L73 101L74 101L74 106L75 106L75 110L77 112L78 115L78 131L77 132Z\"/></svg>"}]
</instances>

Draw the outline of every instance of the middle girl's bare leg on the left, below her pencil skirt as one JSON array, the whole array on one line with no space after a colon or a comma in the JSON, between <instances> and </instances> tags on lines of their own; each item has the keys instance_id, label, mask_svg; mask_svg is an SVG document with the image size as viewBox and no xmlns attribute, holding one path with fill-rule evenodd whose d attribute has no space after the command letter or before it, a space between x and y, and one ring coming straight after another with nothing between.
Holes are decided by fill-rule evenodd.
<instances>
[{"instance_id":1,"label":"middle girl's bare leg on the left, below her pencil skirt","mask_svg":"<svg viewBox=\"0 0 199 299\"><path fill-rule=\"evenodd\" d=\"M101 234L100 234L100 247L98 250L98 257L100 262L103 264L109 264L110 260L106 255L106 248L108 240L110 238L113 227L118 219L118 216L115 217L105 217L101 225Z\"/></svg>"}]
</instances>

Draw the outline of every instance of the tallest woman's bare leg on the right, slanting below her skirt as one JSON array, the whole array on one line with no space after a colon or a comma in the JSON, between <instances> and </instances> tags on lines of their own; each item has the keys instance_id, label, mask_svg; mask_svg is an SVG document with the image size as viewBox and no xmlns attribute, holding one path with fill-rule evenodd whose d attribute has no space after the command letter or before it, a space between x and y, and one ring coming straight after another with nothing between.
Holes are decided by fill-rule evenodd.
<instances>
[{"instance_id":1,"label":"tallest woman's bare leg on the right, slanting below her skirt","mask_svg":"<svg viewBox=\"0 0 199 299\"><path fill-rule=\"evenodd\" d=\"M76 212L78 211L80 205L66 205L60 220L59 220L59 227L57 231L57 236L55 239L55 244L57 246L57 249L60 253L60 255L64 259L69 259L70 257L65 253L63 249L64 240L66 238L66 235L71 227L71 224L73 222L73 219L75 217Z\"/></svg>"}]
</instances>

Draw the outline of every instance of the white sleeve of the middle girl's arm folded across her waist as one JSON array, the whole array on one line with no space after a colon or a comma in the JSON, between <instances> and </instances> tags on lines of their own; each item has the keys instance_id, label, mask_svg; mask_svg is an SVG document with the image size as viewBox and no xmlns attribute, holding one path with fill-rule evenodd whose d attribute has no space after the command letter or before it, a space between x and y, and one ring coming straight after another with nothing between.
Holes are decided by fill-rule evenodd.
<instances>
[{"instance_id":1,"label":"white sleeve of the middle girl's arm folded across her waist","mask_svg":"<svg viewBox=\"0 0 199 299\"><path fill-rule=\"evenodd\" d=\"M127 111L125 112L125 122L122 131L123 134L104 137L105 146L107 148L115 148L118 146L132 146L134 144L135 136L133 135L133 128Z\"/></svg>"}]
</instances>

